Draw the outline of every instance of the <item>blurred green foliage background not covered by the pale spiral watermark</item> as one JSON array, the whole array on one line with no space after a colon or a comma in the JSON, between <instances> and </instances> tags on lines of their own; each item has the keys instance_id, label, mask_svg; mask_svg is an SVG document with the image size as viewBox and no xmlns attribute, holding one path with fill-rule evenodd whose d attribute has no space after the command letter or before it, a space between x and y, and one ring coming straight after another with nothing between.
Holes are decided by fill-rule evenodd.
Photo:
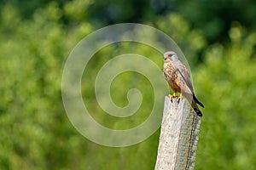
<instances>
[{"instance_id":1,"label":"blurred green foliage background not covered by the pale spiral watermark","mask_svg":"<svg viewBox=\"0 0 256 170\"><path fill-rule=\"evenodd\" d=\"M255 19L253 0L1 1L0 169L154 169L160 130L129 147L101 146L74 129L62 105L68 54L90 32L121 22L164 31L188 59L195 94L206 107L195 169L256 169ZM118 129L143 122L154 99L148 80L127 72L113 82L113 101L125 106L127 90L141 89L135 119L106 116L97 105L96 72L125 53L163 65L152 48L124 43L99 51L105 57L91 59L83 77L90 82L82 89L84 101L95 119Z\"/></svg>"}]
</instances>

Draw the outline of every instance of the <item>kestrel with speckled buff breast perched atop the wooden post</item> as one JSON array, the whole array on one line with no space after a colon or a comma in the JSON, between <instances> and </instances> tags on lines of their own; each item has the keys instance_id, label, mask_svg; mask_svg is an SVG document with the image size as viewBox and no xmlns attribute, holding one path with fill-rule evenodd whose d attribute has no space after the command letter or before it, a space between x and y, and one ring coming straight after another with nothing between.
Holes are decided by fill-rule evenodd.
<instances>
[{"instance_id":1,"label":"kestrel with speckled buff breast perched atop the wooden post","mask_svg":"<svg viewBox=\"0 0 256 170\"><path fill-rule=\"evenodd\" d=\"M171 99L176 97L175 93L180 93L178 99L180 99L183 95L186 99L189 100L195 113L198 116L202 116L197 104L201 105L201 107L204 107L204 105L195 97L189 71L178 59L177 54L173 51L166 52L164 57L164 75L166 77L166 81L169 83L173 90Z\"/></svg>"}]
</instances>

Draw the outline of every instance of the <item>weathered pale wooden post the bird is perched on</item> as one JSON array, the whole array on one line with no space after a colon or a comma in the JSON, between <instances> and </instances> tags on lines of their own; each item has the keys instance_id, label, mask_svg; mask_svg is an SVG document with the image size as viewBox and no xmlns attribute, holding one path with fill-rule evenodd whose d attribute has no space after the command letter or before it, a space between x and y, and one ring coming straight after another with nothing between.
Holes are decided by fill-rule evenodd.
<instances>
[{"instance_id":1,"label":"weathered pale wooden post the bird is perched on","mask_svg":"<svg viewBox=\"0 0 256 170\"><path fill-rule=\"evenodd\" d=\"M185 99L166 97L155 170L194 169L201 119Z\"/></svg>"}]
</instances>

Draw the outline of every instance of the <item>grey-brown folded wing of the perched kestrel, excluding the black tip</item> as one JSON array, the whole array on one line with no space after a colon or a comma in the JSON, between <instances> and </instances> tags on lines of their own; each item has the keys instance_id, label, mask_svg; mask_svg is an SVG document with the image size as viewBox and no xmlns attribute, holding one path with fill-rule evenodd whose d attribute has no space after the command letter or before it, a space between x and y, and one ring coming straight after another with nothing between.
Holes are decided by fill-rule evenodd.
<instances>
[{"instance_id":1,"label":"grey-brown folded wing of the perched kestrel, excluding the black tip","mask_svg":"<svg viewBox=\"0 0 256 170\"><path fill-rule=\"evenodd\" d=\"M181 75L181 77L183 78L183 81L189 87L189 90L191 91L191 93L194 94L194 90L193 90L192 82L191 82L191 79L190 79L189 71L187 70L185 65L183 65L183 63L180 62L180 61L177 64L177 72L178 72L178 74Z\"/></svg>"}]
</instances>

